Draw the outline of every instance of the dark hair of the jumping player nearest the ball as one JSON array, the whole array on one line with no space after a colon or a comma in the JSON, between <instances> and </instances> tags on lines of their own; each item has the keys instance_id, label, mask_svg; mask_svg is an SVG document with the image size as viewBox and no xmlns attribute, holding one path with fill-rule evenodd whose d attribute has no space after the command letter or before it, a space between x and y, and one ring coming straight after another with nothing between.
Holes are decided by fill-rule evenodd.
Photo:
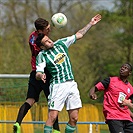
<instances>
[{"instance_id":1,"label":"dark hair of the jumping player nearest the ball","mask_svg":"<svg viewBox=\"0 0 133 133\"><path fill-rule=\"evenodd\" d=\"M43 18L38 18L34 22L36 30L44 30L48 25L49 22Z\"/></svg>"}]
</instances>

